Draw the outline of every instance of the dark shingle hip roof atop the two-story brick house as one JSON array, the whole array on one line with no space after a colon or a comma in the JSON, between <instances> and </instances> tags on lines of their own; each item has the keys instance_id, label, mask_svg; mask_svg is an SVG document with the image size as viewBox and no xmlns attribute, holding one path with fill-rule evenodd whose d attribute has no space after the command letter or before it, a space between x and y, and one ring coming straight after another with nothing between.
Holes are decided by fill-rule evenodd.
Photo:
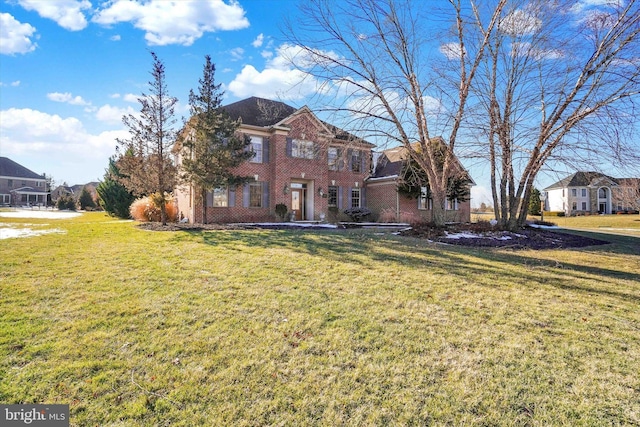
<instances>
[{"instance_id":1,"label":"dark shingle hip roof atop the two-story brick house","mask_svg":"<svg viewBox=\"0 0 640 427\"><path fill-rule=\"evenodd\" d=\"M243 124L253 126L273 126L297 111L283 102L255 96L225 105L222 109L232 119L241 118Z\"/></svg>"}]
</instances>

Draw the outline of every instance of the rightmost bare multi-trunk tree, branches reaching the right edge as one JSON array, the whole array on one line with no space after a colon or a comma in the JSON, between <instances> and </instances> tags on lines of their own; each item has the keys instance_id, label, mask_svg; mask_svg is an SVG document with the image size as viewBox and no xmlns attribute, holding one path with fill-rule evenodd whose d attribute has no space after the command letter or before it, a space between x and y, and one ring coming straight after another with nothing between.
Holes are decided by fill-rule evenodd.
<instances>
[{"instance_id":1,"label":"rightmost bare multi-trunk tree, branches reaching the right edge","mask_svg":"<svg viewBox=\"0 0 640 427\"><path fill-rule=\"evenodd\" d=\"M510 0L492 29L472 97L469 123L490 164L495 215L524 224L539 173L640 164L637 0ZM466 38L486 35L469 27Z\"/></svg>"}]
</instances>

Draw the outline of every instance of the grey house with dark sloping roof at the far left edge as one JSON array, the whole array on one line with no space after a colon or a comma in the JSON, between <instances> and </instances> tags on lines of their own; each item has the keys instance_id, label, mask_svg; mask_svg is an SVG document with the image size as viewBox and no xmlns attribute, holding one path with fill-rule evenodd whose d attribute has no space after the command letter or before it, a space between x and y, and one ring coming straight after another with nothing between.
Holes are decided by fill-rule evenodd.
<instances>
[{"instance_id":1,"label":"grey house with dark sloping roof at the far left edge","mask_svg":"<svg viewBox=\"0 0 640 427\"><path fill-rule=\"evenodd\" d=\"M47 179L7 157L0 157L0 205L44 206Z\"/></svg>"}]
</instances>

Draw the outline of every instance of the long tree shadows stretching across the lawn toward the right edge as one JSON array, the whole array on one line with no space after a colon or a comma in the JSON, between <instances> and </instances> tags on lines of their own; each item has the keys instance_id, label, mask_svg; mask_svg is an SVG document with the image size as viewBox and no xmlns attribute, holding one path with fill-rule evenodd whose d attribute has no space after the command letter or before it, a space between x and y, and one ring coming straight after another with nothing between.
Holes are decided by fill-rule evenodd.
<instances>
[{"instance_id":1,"label":"long tree shadows stretching across the lawn toward the right edge","mask_svg":"<svg viewBox=\"0 0 640 427\"><path fill-rule=\"evenodd\" d=\"M366 268L381 262L387 268L403 268L408 264L427 266L454 278L453 282L470 280L492 286L496 275L513 283L530 286L552 286L586 294L600 294L627 302L640 302L640 288L620 288L622 280L640 283L640 273L616 270L614 265L582 265L535 257L535 252L495 251L460 246L444 246L422 239L380 236L371 232L233 230L189 232L202 236L207 245L245 251L247 248L283 248L292 252L322 256L337 262L354 263ZM610 235L598 238L610 240ZM633 240L620 239L634 245ZM634 239L634 238L626 238ZM638 239L635 239L638 240ZM384 244L382 241L388 242ZM572 249L563 249L565 251ZM580 248L581 252L616 253L616 245ZM629 254L628 248L621 249ZM527 255L528 254L528 255ZM640 258L639 258L640 262ZM455 278L458 278L457 280ZM487 278L486 280L483 278ZM580 280L591 280L598 286L586 286ZM635 292L635 293L634 293Z\"/></svg>"}]
</instances>

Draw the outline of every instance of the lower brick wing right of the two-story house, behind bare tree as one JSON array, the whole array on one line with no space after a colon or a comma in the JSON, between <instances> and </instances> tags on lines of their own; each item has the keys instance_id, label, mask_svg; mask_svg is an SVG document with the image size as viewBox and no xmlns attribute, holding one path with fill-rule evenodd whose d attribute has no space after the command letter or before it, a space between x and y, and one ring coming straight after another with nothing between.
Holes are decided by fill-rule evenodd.
<instances>
[{"instance_id":1,"label":"lower brick wing right of the two-story house, behind bare tree","mask_svg":"<svg viewBox=\"0 0 640 427\"><path fill-rule=\"evenodd\" d=\"M444 141L442 143L444 144ZM367 207L371 209L374 219L400 222L415 219L427 222L432 220L433 202L426 197L426 187L423 187L417 199L398 191L399 178L407 156L408 151L405 147L395 147L383 151L378 157L375 171L366 182ZM469 187L475 185L457 159L456 168L466 175L470 182ZM445 209L447 221L469 222L471 220L470 200L447 200Z\"/></svg>"}]
</instances>

